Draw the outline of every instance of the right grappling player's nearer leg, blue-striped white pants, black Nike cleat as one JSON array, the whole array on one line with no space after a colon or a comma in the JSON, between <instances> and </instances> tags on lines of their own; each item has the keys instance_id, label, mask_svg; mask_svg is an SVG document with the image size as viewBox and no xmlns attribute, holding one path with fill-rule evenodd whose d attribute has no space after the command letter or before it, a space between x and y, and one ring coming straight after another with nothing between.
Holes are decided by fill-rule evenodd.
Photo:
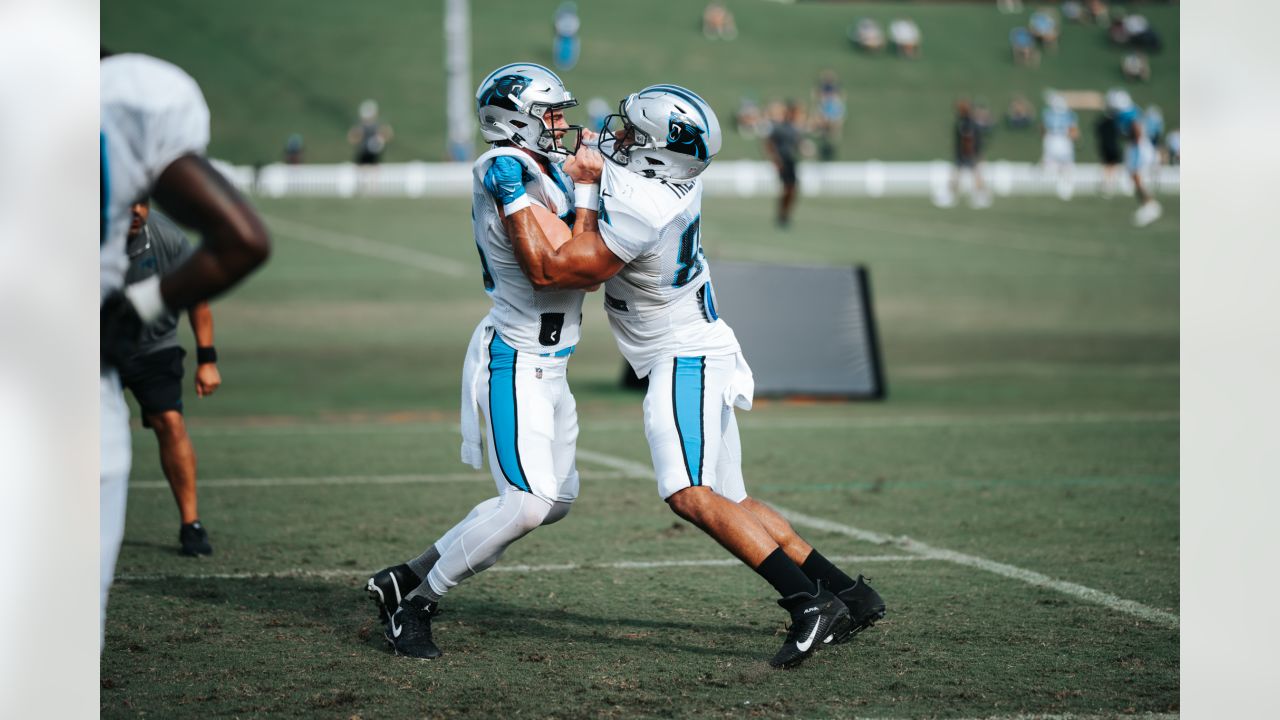
<instances>
[{"instance_id":1,"label":"right grappling player's nearer leg, blue-striped white pants, black Nike cleat","mask_svg":"<svg viewBox=\"0 0 1280 720\"><path fill-rule=\"evenodd\" d=\"M778 592L792 628L774 666L790 667L820 641L847 625L849 611L819 592L778 547L755 516L717 491L724 395L736 359L673 357L649 373L645 436L658 475L658 492L677 515L710 536Z\"/></svg>"}]
</instances>

